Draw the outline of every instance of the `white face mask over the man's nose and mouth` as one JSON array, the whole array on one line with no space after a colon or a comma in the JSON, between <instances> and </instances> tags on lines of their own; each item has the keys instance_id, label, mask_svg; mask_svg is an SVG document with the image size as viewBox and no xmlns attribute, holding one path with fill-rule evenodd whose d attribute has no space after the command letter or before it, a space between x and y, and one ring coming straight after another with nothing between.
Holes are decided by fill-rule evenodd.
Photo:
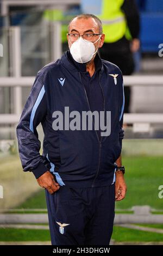
<instances>
[{"instance_id":1,"label":"white face mask over the man's nose and mouth","mask_svg":"<svg viewBox=\"0 0 163 256\"><path fill-rule=\"evenodd\" d=\"M97 42L100 38L101 35L95 42ZM84 40L82 36L80 36L80 38L77 41L74 41L70 47L70 52L73 59L78 63L89 62L98 50L98 48L97 50L95 49L95 42Z\"/></svg>"}]
</instances>

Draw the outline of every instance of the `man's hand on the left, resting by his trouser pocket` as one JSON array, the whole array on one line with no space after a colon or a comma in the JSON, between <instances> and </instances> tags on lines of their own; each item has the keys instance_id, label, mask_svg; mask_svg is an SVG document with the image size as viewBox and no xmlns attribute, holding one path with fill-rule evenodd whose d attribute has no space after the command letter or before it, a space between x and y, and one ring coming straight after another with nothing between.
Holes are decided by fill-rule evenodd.
<instances>
[{"instance_id":1,"label":"man's hand on the left, resting by his trouser pocket","mask_svg":"<svg viewBox=\"0 0 163 256\"><path fill-rule=\"evenodd\" d=\"M59 184L55 182L54 176L48 170L37 179L37 182L40 187L46 188L51 194L60 188Z\"/></svg>"}]
</instances>

